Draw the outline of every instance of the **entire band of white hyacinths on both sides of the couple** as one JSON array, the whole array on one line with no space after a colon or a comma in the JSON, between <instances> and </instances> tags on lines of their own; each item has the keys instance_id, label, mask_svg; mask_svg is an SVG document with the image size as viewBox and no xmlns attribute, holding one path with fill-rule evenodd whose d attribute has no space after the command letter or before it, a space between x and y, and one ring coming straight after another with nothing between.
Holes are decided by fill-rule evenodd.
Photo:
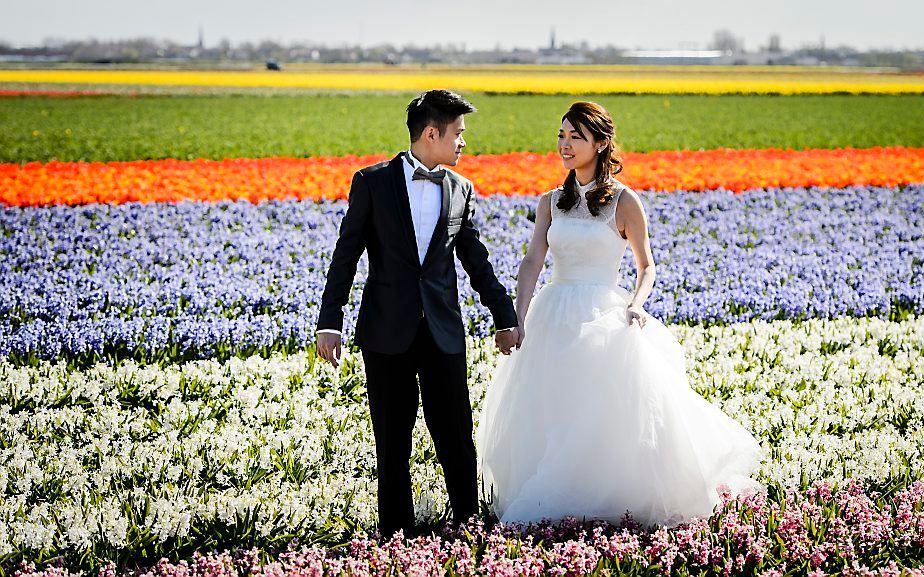
<instances>
[{"instance_id":1,"label":"entire band of white hyacinths on both sides of the couple","mask_svg":"<svg viewBox=\"0 0 924 577\"><path fill-rule=\"evenodd\" d=\"M692 386L757 435L785 486L924 475L924 317L672 326ZM469 341L475 415L497 360ZM417 514L447 509L422 413ZM362 361L307 353L68 371L0 360L0 555L375 523Z\"/></svg>"}]
</instances>

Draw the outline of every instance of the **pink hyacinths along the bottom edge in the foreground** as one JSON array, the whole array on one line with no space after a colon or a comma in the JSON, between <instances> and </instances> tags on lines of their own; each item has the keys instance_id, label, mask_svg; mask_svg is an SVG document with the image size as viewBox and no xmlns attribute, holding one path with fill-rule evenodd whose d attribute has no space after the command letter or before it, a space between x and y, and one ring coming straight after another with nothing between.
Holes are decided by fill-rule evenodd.
<instances>
[{"instance_id":1,"label":"pink hyacinths along the bottom edge in the foreground","mask_svg":"<svg viewBox=\"0 0 924 577\"><path fill-rule=\"evenodd\" d=\"M489 575L519 577L588 574L710 575L837 573L857 577L924 577L924 481L882 499L858 481L836 491L824 482L806 492L731 498L709 518L646 531L628 515L619 526L569 518L553 524L480 519L439 535L380 542L357 535L324 548L290 543L273 556L258 549L199 554L191 562L161 560L134 577L320 577ZM98 577L117 577L113 564ZM122 575L127 575L123 573ZM21 563L13 577L77 577L59 566Z\"/></svg>"}]
</instances>

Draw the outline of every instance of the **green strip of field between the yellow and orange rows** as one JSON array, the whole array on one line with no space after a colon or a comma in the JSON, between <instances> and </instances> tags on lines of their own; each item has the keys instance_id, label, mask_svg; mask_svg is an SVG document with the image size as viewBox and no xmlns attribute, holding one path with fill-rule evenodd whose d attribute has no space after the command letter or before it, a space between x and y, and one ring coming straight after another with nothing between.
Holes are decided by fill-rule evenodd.
<instances>
[{"instance_id":1,"label":"green strip of field between the yellow and orange rows","mask_svg":"<svg viewBox=\"0 0 924 577\"><path fill-rule=\"evenodd\" d=\"M549 151L574 96L469 94L468 152ZM411 94L0 99L0 162L391 153ZM599 96L625 150L924 146L924 96Z\"/></svg>"}]
</instances>

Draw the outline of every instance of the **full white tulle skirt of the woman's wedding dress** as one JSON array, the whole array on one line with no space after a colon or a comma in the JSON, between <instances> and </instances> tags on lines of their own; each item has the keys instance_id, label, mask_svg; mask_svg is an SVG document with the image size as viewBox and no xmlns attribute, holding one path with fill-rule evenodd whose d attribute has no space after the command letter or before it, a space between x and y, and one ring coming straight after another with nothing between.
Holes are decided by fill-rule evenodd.
<instances>
[{"instance_id":1,"label":"full white tulle skirt of the woman's wedding dress","mask_svg":"<svg viewBox=\"0 0 924 577\"><path fill-rule=\"evenodd\" d=\"M617 285L553 282L534 297L520 350L501 357L477 430L484 490L504 522L628 511L674 526L708 516L764 457L754 437L686 378L658 319L626 322Z\"/></svg>"}]
</instances>

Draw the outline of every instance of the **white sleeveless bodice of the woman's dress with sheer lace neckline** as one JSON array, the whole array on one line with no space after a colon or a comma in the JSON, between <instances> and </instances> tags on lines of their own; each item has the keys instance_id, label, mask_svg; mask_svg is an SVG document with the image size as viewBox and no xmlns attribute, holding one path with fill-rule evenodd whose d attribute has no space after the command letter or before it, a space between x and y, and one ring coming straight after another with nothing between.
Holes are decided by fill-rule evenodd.
<instances>
[{"instance_id":1,"label":"white sleeveless bodice of the woman's dress with sheer lace neckline","mask_svg":"<svg viewBox=\"0 0 924 577\"><path fill-rule=\"evenodd\" d=\"M557 206L563 189L551 193L552 223L546 240L552 254L553 283L613 285L619 281L619 265L628 241L612 222L625 185L616 182L616 194L596 216L584 197L593 186L593 182L579 186L578 202L567 212Z\"/></svg>"}]
</instances>

